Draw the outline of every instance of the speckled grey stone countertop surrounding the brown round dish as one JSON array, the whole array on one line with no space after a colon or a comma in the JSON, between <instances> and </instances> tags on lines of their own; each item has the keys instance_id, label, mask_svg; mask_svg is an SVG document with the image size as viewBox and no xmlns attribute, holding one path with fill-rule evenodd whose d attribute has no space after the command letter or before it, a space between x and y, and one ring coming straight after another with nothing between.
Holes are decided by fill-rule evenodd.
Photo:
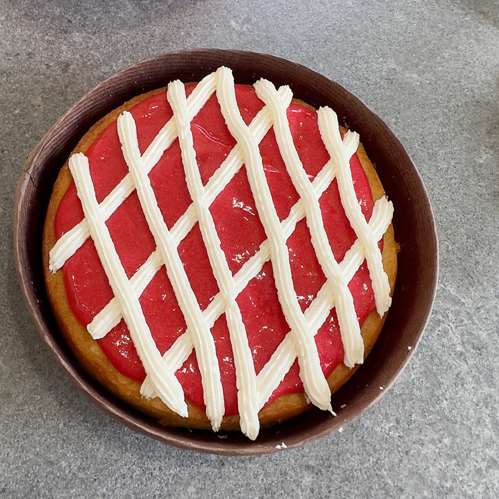
<instances>
[{"instance_id":1,"label":"speckled grey stone countertop surrounding the brown round dish","mask_svg":"<svg viewBox=\"0 0 499 499\"><path fill-rule=\"evenodd\" d=\"M0 0L0 498L499 497L499 8L472 0ZM182 451L90 404L43 347L12 258L15 184L44 132L170 50L275 54L337 81L414 159L441 250L408 368L353 423L259 458Z\"/></svg>"}]
</instances>

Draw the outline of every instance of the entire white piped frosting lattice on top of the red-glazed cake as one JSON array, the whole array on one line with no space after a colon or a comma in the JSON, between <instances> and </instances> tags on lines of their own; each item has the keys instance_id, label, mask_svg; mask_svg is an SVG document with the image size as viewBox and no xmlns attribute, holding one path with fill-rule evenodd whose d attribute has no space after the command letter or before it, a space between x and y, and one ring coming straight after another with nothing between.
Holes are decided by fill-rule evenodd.
<instances>
[{"instance_id":1,"label":"entire white piped frosting lattice on top of the red-glazed cake","mask_svg":"<svg viewBox=\"0 0 499 499\"><path fill-rule=\"evenodd\" d=\"M142 395L148 398L159 396L170 409L182 416L187 416L187 405L174 373L194 348L201 371L206 413L215 431L220 428L225 409L220 368L210 329L225 313L234 352L241 429L251 439L255 439L259 431L258 411L296 358L300 366L300 378L310 401L321 409L332 412L330 390L322 373L314 337L330 310L335 307L344 345L344 363L353 367L354 364L363 362L364 345L348 283L365 258L372 280L376 309L380 315L388 309L388 278L383 270L377 241L387 230L393 214L392 203L381 198L375 203L369 222L366 222L353 189L349 168L349 160L357 150L359 138L356 133L349 131L341 139L337 118L331 109L321 108L317 112L321 137L331 159L313 182L310 182L294 147L286 117L286 109L292 98L290 89L284 86L276 90L266 80L256 82L254 88L265 106L247 126L236 102L234 79L229 69L221 67L208 75L187 98L183 83L170 83L167 98L173 117L143 155L139 150L133 116L126 111L120 115L118 135L129 173L99 205L87 158L81 153L70 158L69 168L85 218L57 241L50 251L49 261L50 269L56 271L88 237L92 238L114 298L94 317L88 325L88 331L93 338L102 338L124 318L147 374L141 387ZM207 185L203 186L190 122L214 92L237 144ZM279 221L273 205L258 149L259 142L270 127L273 127L280 154L300 196L283 221ZM172 229L168 230L148 174L177 137L192 204ZM233 276L209 207L243 164L267 239ZM329 246L319 207L322 193L334 178L338 181L345 213L358 238L341 262L335 260ZM156 250L128 279L105 221L133 190L137 191L156 242ZM326 281L308 308L302 312L291 278L286 240L304 217ZM220 290L204 310L198 304L177 251L181 241L196 223L199 224ZM279 302L290 331L256 375L236 298L269 259ZM163 265L185 317L187 329L161 356L144 318L139 297Z\"/></svg>"}]
</instances>

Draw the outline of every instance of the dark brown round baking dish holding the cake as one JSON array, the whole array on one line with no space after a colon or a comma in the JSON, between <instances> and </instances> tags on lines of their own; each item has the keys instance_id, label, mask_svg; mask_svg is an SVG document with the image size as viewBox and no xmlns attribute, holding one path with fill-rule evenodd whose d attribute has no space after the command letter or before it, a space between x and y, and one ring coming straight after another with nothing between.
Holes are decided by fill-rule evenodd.
<instances>
[{"instance_id":1,"label":"dark brown round baking dish holding the cake","mask_svg":"<svg viewBox=\"0 0 499 499\"><path fill-rule=\"evenodd\" d=\"M199 81L221 65L233 69L238 83L252 84L264 77L275 85L289 84L296 98L317 108L330 106L340 122L360 133L395 206L393 225L400 245L392 308L365 363L333 395L332 406L338 416L314 408L262 429L255 442L237 432L217 435L164 427L109 394L83 371L66 346L48 304L41 265L42 229L52 185L90 126L137 94L176 78ZM437 234L430 202L412 160L383 121L340 85L310 69L270 55L218 49L171 52L139 62L97 85L50 128L28 156L17 185L14 257L28 311L43 341L92 402L155 439L226 455L271 453L282 442L287 448L302 446L337 430L376 402L414 353L430 316L438 277Z\"/></svg>"}]
</instances>

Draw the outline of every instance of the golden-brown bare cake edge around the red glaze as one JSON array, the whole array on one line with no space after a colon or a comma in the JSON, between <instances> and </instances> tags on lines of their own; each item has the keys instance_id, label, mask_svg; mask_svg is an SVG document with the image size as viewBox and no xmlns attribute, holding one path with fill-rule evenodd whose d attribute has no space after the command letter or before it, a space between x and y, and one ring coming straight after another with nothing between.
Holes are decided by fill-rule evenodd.
<instances>
[{"instance_id":1,"label":"golden-brown bare cake edge around the red glaze","mask_svg":"<svg viewBox=\"0 0 499 499\"><path fill-rule=\"evenodd\" d=\"M129 100L121 107L111 111L83 136L73 150L72 154L77 152L85 153L90 145L105 130L105 128L110 123L115 121L123 111L129 110L141 100L161 92L166 92L166 87L139 95ZM293 102L313 109L311 106L301 101L293 100ZM346 132L346 130L342 128L342 132ZM385 192L378 175L376 174L374 166L367 157L362 144L359 144L357 155L368 178L373 199L376 201L385 196ZM161 424L210 429L211 424L204 411L190 403L188 400L186 402L189 410L189 418L183 418L171 411L158 397L149 400L143 398L140 395L141 384L135 380L127 378L114 368L102 352L97 341L90 336L86 328L74 316L66 296L62 269L59 269L57 272L52 274L48 265L49 251L56 242L54 234L55 214L71 181L72 177L69 172L68 162L66 161L53 187L45 219L42 243L43 271L48 298L57 320L57 324L59 325L59 328L71 351L82 367L106 389L127 404L155 418ZM393 293L397 272L397 250L392 225L390 225L384 235L382 257L383 266L389 279L391 295ZM364 339L365 356L367 356L370 352L376 339L378 338L385 317L386 314L384 317L380 318L376 310L373 310L373 312L371 312L365 320L361 329L361 334ZM331 392L333 393L340 388L348 380L348 378L352 376L357 368L358 366L350 369L343 363L340 363L328 378ZM312 405L307 401L303 393L282 395L266 405L259 412L258 416L260 425L265 427L279 423L296 416L311 407ZM239 428L239 416L224 417L221 430L239 430Z\"/></svg>"}]
</instances>

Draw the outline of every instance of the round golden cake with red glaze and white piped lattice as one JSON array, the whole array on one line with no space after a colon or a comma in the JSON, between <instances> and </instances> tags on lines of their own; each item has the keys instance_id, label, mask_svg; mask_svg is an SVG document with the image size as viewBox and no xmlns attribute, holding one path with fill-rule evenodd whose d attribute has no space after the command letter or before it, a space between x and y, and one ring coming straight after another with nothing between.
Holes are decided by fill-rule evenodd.
<instances>
[{"instance_id":1,"label":"round golden cake with red glaze and white piped lattice","mask_svg":"<svg viewBox=\"0 0 499 499\"><path fill-rule=\"evenodd\" d=\"M96 123L54 185L49 300L80 364L162 424L255 439L369 353L393 207L355 132L225 67Z\"/></svg>"}]
</instances>

